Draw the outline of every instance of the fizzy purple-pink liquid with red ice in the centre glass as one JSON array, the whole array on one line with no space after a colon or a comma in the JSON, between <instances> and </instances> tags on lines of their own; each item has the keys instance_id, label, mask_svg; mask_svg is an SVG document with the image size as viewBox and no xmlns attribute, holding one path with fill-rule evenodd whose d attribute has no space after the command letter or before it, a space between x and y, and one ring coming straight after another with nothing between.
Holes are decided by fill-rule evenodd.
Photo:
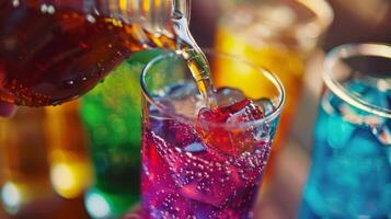
<instances>
[{"instance_id":1,"label":"fizzy purple-pink liquid with red ice in the centre glass","mask_svg":"<svg viewBox=\"0 0 391 219\"><path fill-rule=\"evenodd\" d=\"M194 126L158 114L150 110L143 119L143 218L252 218L275 127L205 122L250 122L262 118L263 108L246 99L203 108Z\"/></svg>"}]
</instances>

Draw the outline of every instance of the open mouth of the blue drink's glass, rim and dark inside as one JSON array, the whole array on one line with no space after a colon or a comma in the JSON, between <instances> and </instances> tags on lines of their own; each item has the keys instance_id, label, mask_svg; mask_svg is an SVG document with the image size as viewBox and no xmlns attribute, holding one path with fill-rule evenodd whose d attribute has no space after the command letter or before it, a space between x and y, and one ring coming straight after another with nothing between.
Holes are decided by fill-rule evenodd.
<instances>
[{"instance_id":1,"label":"open mouth of the blue drink's glass, rim and dark inside","mask_svg":"<svg viewBox=\"0 0 391 219\"><path fill-rule=\"evenodd\" d=\"M324 61L323 80L344 102L363 112L391 118L390 107L369 102L346 88L347 80L358 79L391 93L391 46L386 44L346 44L332 49ZM386 95L386 94L384 94Z\"/></svg>"}]
</instances>

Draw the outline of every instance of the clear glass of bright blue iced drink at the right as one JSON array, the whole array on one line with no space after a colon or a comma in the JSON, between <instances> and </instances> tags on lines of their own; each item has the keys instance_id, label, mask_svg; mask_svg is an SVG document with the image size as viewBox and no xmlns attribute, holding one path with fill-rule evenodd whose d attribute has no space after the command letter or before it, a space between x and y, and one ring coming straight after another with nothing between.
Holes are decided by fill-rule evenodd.
<instances>
[{"instance_id":1,"label":"clear glass of bright blue iced drink at the right","mask_svg":"<svg viewBox=\"0 0 391 219\"><path fill-rule=\"evenodd\" d=\"M323 80L299 218L389 218L391 47L340 46Z\"/></svg>"}]
</instances>

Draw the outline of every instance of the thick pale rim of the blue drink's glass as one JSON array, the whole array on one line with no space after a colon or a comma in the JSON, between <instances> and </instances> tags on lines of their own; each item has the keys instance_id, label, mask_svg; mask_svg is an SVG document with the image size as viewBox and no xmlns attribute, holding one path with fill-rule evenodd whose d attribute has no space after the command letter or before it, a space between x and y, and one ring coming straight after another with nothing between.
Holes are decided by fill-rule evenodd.
<instances>
[{"instance_id":1,"label":"thick pale rim of the blue drink's glass","mask_svg":"<svg viewBox=\"0 0 391 219\"><path fill-rule=\"evenodd\" d=\"M361 100L357 95L354 95L349 90L345 89L334 78L333 67L335 64L343 58L354 56L382 57L391 60L391 46L380 43L364 43L344 44L333 48L329 51L324 60L323 81L325 85L331 90L331 92L349 105L380 117L391 118L390 108L384 108Z\"/></svg>"}]
</instances>

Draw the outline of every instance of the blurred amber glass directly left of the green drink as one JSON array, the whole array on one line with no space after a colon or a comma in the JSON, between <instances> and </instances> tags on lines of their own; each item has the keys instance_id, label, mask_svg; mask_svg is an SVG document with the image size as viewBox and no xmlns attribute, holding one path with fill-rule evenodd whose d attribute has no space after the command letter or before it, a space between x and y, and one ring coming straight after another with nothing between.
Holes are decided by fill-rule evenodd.
<instances>
[{"instance_id":1,"label":"blurred amber glass directly left of the green drink","mask_svg":"<svg viewBox=\"0 0 391 219\"><path fill-rule=\"evenodd\" d=\"M64 198L80 196L92 184L87 136L79 115L80 103L46 107L45 130L50 182Z\"/></svg>"}]
</instances>

